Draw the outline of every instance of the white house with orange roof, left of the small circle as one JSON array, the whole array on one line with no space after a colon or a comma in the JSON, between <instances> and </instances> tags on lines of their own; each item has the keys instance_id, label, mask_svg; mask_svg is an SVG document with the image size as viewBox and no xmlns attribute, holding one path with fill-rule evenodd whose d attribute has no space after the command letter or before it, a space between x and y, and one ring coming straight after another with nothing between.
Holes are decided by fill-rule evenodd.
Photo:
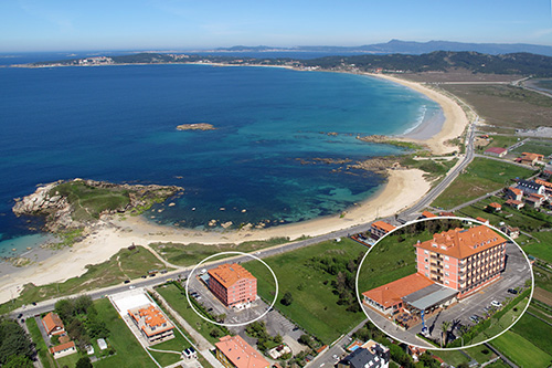
<instances>
[{"instance_id":1,"label":"white house with orange roof, left of the small circle","mask_svg":"<svg viewBox=\"0 0 552 368\"><path fill-rule=\"evenodd\" d=\"M152 304L128 309L128 315L149 344L174 337L174 325Z\"/></svg>"}]
</instances>

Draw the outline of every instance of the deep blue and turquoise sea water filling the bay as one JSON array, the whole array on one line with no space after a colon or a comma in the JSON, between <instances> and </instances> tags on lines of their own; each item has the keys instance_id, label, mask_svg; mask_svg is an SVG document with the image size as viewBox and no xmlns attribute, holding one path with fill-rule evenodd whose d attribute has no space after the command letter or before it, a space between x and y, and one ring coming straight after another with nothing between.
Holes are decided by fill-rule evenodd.
<instances>
[{"instance_id":1,"label":"deep blue and turquoise sea water filling the bay","mask_svg":"<svg viewBox=\"0 0 552 368\"><path fill-rule=\"evenodd\" d=\"M355 135L404 133L424 112L431 116L439 107L400 85L350 74L209 65L0 67L0 256L39 236L29 232L29 219L12 214L13 198L59 179L181 186L184 194L168 201L177 206L146 214L181 227L213 219L274 225L339 213L370 197L382 178L298 159L400 154ZM176 129L191 123L217 129Z\"/></svg>"}]
</instances>

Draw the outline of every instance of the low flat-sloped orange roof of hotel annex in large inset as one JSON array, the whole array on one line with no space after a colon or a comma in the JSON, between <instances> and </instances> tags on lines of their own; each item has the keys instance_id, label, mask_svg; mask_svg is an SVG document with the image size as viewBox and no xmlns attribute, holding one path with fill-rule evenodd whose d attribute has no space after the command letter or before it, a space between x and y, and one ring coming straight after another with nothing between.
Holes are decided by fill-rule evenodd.
<instances>
[{"instance_id":1,"label":"low flat-sloped orange roof of hotel annex in large inset","mask_svg":"<svg viewBox=\"0 0 552 368\"><path fill-rule=\"evenodd\" d=\"M412 275L395 280L389 284L369 290L362 293L362 295L388 308L401 302L402 297L429 285L433 285L433 281L421 273L413 273Z\"/></svg>"}]
</instances>

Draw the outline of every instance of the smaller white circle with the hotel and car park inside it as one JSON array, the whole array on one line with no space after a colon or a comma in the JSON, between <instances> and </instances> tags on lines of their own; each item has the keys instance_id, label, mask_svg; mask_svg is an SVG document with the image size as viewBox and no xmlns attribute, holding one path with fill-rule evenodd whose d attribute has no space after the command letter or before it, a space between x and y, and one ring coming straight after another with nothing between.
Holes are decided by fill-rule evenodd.
<instances>
[{"instance_id":1,"label":"smaller white circle with the hotel and car park inside it","mask_svg":"<svg viewBox=\"0 0 552 368\"><path fill-rule=\"evenodd\" d=\"M224 259L221 261L221 257ZM274 277L276 286L269 305L257 295L257 277L247 270L248 262L261 262ZM193 267L185 283L185 294L201 318L220 326L243 326L272 309L278 297L278 281L263 260L242 252L221 252Z\"/></svg>"}]
</instances>

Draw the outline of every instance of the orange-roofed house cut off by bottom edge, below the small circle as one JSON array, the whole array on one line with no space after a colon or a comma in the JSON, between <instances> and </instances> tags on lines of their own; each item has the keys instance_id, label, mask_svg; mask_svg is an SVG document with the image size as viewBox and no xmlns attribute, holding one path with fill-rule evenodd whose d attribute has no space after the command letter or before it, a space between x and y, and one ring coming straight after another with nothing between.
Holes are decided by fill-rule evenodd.
<instances>
[{"instance_id":1,"label":"orange-roofed house cut off by bottom edge, below the small circle","mask_svg":"<svg viewBox=\"0 0 552 368\"><path fill-rule=\"evenodd\" d=\"M226 368L268 368L270 364L240 335L224 336L214 345L216 359Z\"/></svg>"}]
</instances>

